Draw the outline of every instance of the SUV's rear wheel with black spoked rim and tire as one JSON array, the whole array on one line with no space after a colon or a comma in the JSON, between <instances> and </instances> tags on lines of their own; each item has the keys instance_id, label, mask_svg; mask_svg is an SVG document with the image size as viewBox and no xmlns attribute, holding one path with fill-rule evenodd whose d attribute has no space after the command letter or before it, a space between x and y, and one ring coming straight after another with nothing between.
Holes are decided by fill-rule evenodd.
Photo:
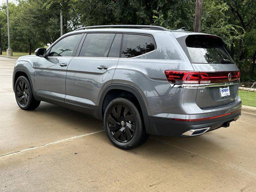
<instances>
[{"instance_id":1,"label":"SUV's rear wheel with black spoked rim and tire","mask_svg":"<svg viewBox=\"0 0 256 192\"><path fill-rule=\"evenodd\" d=\"M126 98L112 100L104 112L104 127L109 140L118 148L131 149L148 139L142 115Z\"/></svg>"}]
</instances>

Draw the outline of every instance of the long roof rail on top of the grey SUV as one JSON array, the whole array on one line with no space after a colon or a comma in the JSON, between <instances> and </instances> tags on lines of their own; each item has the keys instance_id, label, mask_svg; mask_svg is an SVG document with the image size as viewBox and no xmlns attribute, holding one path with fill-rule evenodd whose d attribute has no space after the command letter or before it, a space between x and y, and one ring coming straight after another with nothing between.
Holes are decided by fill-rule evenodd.
<instances>
[{"instance_id":1,"label":"long roof rail on top of the grey SUV","mask_svg":"<svg viewBox=\"0 0 256 192\"><path fill-rule=\"evenodd\" d=\"M85 29L96 29L96 28L139 28L139 29L151 29L151 30L168 30L164 27L154 26L154 25L98 25L98 26L89 26L89 27L82 27L78 30L85 30Z\"/></svg>"}]
</instances>

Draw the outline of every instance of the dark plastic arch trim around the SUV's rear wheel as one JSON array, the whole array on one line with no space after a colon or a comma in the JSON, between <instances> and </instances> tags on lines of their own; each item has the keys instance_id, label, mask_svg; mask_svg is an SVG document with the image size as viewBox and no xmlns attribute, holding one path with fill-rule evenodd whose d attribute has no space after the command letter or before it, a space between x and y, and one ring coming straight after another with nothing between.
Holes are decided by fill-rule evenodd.
<instances>
[{"instance_id":1,"label":"dark plastic arch trim around the SUV's rear wheel","mask_svg":"<svg viewBox=\"0 0 256 192\"><path fill-rule=\"evenodd\" d=\"M99 106L98 106L99 118L101 120L103 120L103 116L102 116L103 101L104 101L104 98L105 98L106 94L108 93L108 91L110 91L112 89L126 90L126 91L131 92L132 94L134 94L134 96L137 98L137 100L140 104L140 108L142 110L142 115L143 115L143 120L144 120L144 125L145 125L145 128L146 128L146 132L148 134L151 134L150 124L149 124L149 119L148 119L148 111L146 109L146 105L144 103L144 100L143 100L141 94L138 92L138 90L136 90L134 87L129 86L129 85L110 84L104 89L104 91L102 92L102 95L100 96L100 102L99 102Z\"/></svg>"}]
</instances>

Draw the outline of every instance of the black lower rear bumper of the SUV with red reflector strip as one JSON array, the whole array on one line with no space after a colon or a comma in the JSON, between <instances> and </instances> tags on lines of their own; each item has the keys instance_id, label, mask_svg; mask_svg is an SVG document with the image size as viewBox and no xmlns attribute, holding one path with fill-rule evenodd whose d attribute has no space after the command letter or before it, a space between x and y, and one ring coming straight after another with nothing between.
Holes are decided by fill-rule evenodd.
<instances>
[{"instance_id":1,"label":"black lower rear bumper of the SUV with red reflector strip","mask_svg":"<svg viewBox=\"0 0 256 192\"><path fill-rule=\"evenodd\" d=\"M179 121L173 118L159 118L150 116L151 134L162 136L180 136L191 129L210 127L207 132L226 126L229 122L235 121L241 115L241 108L231 114L212 119L196 121Z\"/></svg>"}]
</instances>

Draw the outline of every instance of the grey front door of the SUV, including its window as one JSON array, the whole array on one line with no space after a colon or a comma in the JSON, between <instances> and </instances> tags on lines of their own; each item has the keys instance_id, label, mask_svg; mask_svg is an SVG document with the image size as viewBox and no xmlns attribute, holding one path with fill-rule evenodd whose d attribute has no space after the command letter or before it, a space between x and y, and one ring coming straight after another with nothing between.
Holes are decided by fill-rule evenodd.
<instances>
[{"instance_id":1,"label":"grey front door of the SUV, including its window","mask_svg":"<svg viewBox=\"0 0 256 192\"><path fill-rule=\"evenodd\" d=\"M64 36L50 47L46 58L41 57L36 62L34 84L40 100L65 105L67 67L82 36L82 33Z\"/></svg>"}]
</instances>

